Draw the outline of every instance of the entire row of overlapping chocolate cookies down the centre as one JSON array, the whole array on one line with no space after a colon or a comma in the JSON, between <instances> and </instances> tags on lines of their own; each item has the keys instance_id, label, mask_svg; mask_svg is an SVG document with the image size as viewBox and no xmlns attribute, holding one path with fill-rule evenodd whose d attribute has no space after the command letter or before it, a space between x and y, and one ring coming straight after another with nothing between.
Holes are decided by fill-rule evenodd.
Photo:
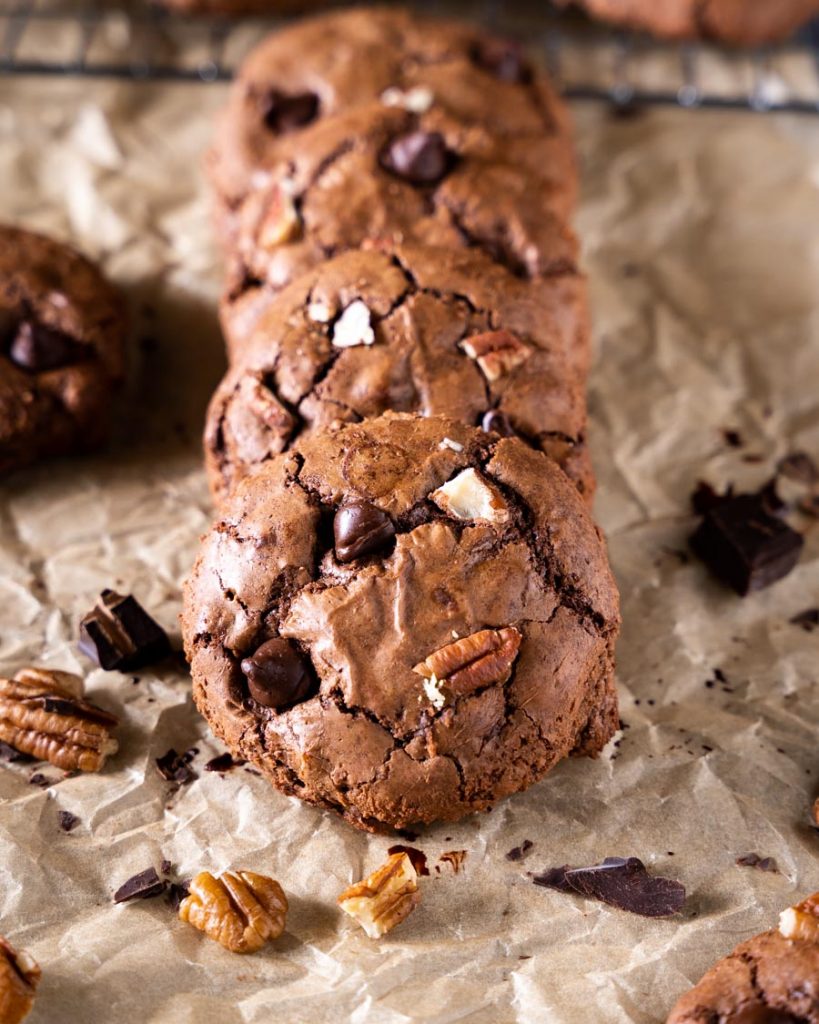
<instances>
[{"instance_id":1,"label":"entire row of overlapping chocolate cookies down the centre","mask_svg":"<svg viewBox=\"0 0 819 1024\"><path fill-rule=\"evenodd\" d=\"M252 54L209 166L231 367L183 632L214 731L370 829L594 756L618 609L550 83L468 26L333 13Z\"/></svg>"}]
</instances>

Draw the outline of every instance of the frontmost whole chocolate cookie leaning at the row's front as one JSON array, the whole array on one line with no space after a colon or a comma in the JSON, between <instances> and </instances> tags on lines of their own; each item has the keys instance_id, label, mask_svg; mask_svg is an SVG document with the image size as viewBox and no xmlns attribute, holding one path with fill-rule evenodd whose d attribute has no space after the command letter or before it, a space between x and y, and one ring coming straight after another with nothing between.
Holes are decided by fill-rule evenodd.
<instances>
[{"instance_id":1,"label":"frontmost whole chocolate cookie leaning at the row's front","mask_svg":"<svg viewBox=\"0 0 819 1024\"><path fill-rule=\"evenodd\" d=\"M214 732L367 829L455 820L597 754L617 631L605 546L555 463L392 414L247 477L183 613Z\"/></svg>"}]
</instances>

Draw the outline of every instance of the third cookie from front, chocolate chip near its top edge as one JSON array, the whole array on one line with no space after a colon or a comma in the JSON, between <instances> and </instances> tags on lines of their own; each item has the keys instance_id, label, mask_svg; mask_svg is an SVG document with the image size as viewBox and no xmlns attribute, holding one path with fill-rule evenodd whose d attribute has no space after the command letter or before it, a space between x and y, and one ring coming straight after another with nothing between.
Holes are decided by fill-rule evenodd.
<instances>
[{"instance_id":1,"label":"third cookie from front, chocolate chip near its top edge","mask_svg":"<svg viewBox=\"0 0 819 1024\"><path fill-rule=\"evenodd\" d=\"M426 102L359 106L285 136L281 170L236 210L231 296L248 281L281 289L362 245L478 248L527 278L573 268L562 141L556 157L549 135L497 137Z\"/></svg>"}]
</instances>

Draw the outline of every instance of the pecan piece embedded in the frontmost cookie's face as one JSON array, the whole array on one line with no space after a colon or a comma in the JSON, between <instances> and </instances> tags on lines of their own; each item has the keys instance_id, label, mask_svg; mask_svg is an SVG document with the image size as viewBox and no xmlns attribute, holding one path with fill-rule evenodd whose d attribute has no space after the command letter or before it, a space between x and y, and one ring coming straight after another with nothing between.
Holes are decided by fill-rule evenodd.
<instances>
[{"instance_id":1,"label":"pecan piece embedded in the frontmost cookie's face","mask_svg":"<svg viewBox=\"0 0 819 1024\"><path fill-rule=\"evenodd\" d=\"M413 672L457 696L491 683L505 683L520 650L522 637L514 626L480 630L461 637L419 663Z\"/></svg>"}]
</instances>

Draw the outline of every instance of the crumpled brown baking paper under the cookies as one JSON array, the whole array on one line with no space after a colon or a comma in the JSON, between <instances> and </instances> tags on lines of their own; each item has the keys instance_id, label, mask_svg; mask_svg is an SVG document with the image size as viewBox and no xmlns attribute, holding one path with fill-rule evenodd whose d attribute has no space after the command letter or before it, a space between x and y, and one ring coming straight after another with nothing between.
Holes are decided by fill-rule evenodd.
<instances>
[{"instance_id":1,"label":"crumpled brown baking paper under the cookies","mask_svg":"<svg viewBox=\"0 0 819 1024\"><path fill-rule=\"evenodd\" d=\"M819 631L788 622L819 605L817 524L799 568L745 600L685 554L698 479L756 487L787 452L819 456L819 120L575 108L597 511L622 590L628 728L599 760L427 829L422 903L375 942L335 899L389 839L242 768L203 771L221 748L181 668L106 674L76 646L109 586L178 643L180 585L211 517L200 431L224 366L200 176L224 88L6 78L0 89L0 214L100 257L134 318L110 453L0 484L0 672L80 672L122 716L120 752L98 775L42 790L34 770L60 773L0 767L0 932L42 965L32 1024L653 1024L712 962L819 888ZM170 746L199 751L199 777L176 793L155 767ZM60 810L80 818L70 835ZM524 840L526 859L507 860ZM458 874L439 861L449 850L467 851ZM780 873L736 866L748 852ZM611 855L679 878L683 913L644 920L526 873ZM113 905L163 858L176 878L271 874L291 900L286 935L243 958L162 898Z\"/></svg>"}]
</instances>

